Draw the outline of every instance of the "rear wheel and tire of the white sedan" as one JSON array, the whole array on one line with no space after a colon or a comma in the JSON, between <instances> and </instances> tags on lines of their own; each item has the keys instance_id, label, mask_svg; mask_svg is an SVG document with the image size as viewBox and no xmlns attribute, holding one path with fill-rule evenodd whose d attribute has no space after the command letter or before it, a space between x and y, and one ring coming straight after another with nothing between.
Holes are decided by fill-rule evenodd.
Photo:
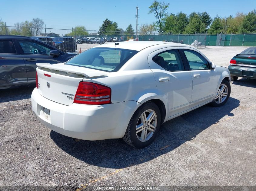
<instances>
[{"instance_id":1,"label":"rear wheel and tire of the white sedan","mask_svg":"<svg viewBox=\"0 0 256 191\"><path fill-rule=\"evenodd\" d=\"M153 142L161 123L161 113L153 102L146 102L135 111L123 137L135 148L144 148Z\"/></svg>"}]
</instances>

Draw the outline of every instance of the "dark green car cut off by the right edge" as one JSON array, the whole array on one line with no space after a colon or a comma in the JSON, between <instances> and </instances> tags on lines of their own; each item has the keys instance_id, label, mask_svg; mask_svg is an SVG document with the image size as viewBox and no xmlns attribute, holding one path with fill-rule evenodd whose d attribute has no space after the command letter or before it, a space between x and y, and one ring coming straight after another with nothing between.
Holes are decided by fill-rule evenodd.
<instances>
[{"instance_id":1,"label":"dark green car cut off by the right edge","mask_svg":"<svg viewBox=\"0 0 256 191\"><path fill-rule=\"evenodd\" d=\"M256 47L245 49L230 60L231 81L238 77L256 79Z\"/></svg>"}]
</instances>

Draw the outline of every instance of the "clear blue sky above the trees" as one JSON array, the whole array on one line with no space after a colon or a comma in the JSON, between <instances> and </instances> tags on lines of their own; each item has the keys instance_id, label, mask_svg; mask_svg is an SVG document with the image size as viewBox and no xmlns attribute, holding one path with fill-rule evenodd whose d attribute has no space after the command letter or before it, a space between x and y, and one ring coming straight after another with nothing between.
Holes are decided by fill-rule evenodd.
<instances>
[{"instance_id":1,"label":"clear blue sky above the trees","mask_svg":"<svg viewBox=\"0 0 256 191\"><path fill-rule=\"evenodd\" d=\"M2 0L0 18L9 26L14 26L18 21L31 21L32 18L38 17L49 28L70 29L76 25L84 25L87 30L98 30L105 18L108 18L117 22L123 29L124 27L126 29L129 24L136 29L136 6L139 8L138 24L151 24L155 21L154 15L148 14L148 7L152 2L153 0ZM255 0L165 0L165 2L170 3L168 13L176 14L182 11L190 14L193 11L206 11L212 18L217 14L221 17L235 15L237 11L248 13L256 8Z\"/></svg>"}]
</instances>

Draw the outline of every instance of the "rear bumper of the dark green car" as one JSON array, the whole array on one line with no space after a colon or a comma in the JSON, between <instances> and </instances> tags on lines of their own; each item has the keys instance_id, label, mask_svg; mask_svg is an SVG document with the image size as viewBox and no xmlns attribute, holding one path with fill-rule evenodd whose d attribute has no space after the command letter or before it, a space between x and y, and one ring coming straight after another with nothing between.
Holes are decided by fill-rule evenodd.
<instances>
[{"instance_id":1,"label":"rear bumper of the dark green car","mask_svg":"<svg viewBox=\"0 0 256 191\"><path fill-rule=\"evenodd\" d=\"M229 65L228 70L232 76L256 79L256 68Z\"/></svg>"}]
</instances>

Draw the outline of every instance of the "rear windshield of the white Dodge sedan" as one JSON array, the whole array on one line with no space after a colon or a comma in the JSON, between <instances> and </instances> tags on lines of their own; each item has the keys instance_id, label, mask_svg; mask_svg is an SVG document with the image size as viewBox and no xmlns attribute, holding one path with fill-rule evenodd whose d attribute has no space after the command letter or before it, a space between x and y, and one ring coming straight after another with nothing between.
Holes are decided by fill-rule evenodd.
<instances>
[{"instance_id":1,"label":"rear windshield of the white Dodge sedan","mask_svg":"<svg viewBox=\"0 0 256 191\"><path fill-rule=\"evenodd\" d=\"M118 71L138 51L118 48L91 48L65 64L106 72Z\"/></svg>"}]
</instances>

